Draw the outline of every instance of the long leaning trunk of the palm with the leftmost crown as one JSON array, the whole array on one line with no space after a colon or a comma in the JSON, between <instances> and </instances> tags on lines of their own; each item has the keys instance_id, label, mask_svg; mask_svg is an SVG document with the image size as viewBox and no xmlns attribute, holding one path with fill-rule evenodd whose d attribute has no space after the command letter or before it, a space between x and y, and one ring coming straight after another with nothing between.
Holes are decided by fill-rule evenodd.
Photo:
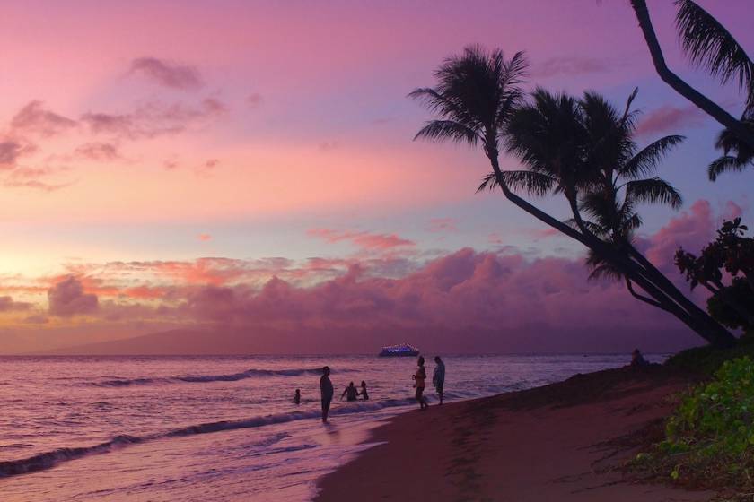
<instances>
[{"instance_id":1,"label":"long leaning trunk of the palm with the leftmost crown","mask_svg":"<svg viewBox=\"0 0 754 502\"><path fill-rule=\"evenodd\" d=\"M651 303L651 305L653 305L654 307L660 307L662 308L662 310L665 310L671 313L673 316L676 316L682 323L688 325L691 330L704 338L707 342L722 347L731 346L735 342L735 337L733 337L731 333L725 330L722 325L716 323L715 320L712 319L712 317L706 315L706 312L701 311L701 309L699 309L696 304L694 304L693 307L699 310L701 314L703 314L703 316L700 316L694 309L690 309L691 311L689 312L688 308L684 308L682 305L679 305L679 302L673 299L672 296L669 295L663 288L658 287L658 285L655 284L654 281L647 278L645 272L642 273L644 271L643 267L639 267L638 264L632 262L627 258L627 256L618 254L614 249L602 242L601 239L592 236L591 233L589 235L584 235L582 232L569 227L562 221L558 221L557 219L553 218L547 212L541 211L538 207L522 199L522 197L513 194L511 189L505 183L503 173L500 169L500 164L495 153L496 152L494 151L488 152L487 157L489 158L493 172L495 173L497 184L503 191L505 198L521 208L523 211L530 213L539 221L542 221L548 226L557 229L570 238L574 238L574 240L579 241L585 247L589 247L598 255L601 255L605 259L609 260L609 262L618 265L622 272L626 274L628 279L636 282L638 286L646 291L647 294L651 295L654 301L659 304L654 305ZM664 276L662 277L664 278ZM680 296L683 295L681 294ZM685 299L685 297L683 298ZM693 303L690 302L690 300L688 301L689 303Z\"/></svg>"}]
</instances>

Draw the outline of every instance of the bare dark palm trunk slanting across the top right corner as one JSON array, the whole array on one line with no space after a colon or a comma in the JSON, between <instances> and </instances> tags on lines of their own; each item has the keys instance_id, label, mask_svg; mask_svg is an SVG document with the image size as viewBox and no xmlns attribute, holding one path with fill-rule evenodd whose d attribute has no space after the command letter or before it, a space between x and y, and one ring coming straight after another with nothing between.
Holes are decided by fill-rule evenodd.
<instances>
[{"instance_id":1,"label":"bare dark palm trunk slanting across the top right corner","mask_svg":"<svg viewBox=\"0 0 754 502\"><path fill-rule=\"evenodd\" d=\"M644 40L646 40L646 45L652 55L654 69L657 70L660 78L681 96L694 103L697 108L705 111L710 117L715 118L721 125L732 130L743 142L748 143L751 148L754 148L754 133L745 127L741 120L732 117L731 114L723 110L713 100L710 100L704 94L688 85L688 83L668 68L668 65L665 63L665 57L662 56L660 42L657 40L657 35L654 32L652 19L649 17L649 9L647 9L646 1L631 0L631 6L634 8L636 20L639 22L639 26L644 33Z\"/></svg>"}]
</instances>

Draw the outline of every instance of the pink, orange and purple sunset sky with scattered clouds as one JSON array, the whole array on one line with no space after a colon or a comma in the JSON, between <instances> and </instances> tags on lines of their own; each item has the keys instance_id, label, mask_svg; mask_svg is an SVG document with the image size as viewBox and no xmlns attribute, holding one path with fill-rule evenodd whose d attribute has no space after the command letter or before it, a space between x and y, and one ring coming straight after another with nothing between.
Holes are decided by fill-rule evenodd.
<instances>
[{"instance_id":1,"label":"pink, orange and purple sunset sky with scattered clouds","mask_svg":"<svg viewBox=\"0 0 754 502\"><path fill-rule=\"evenodd\" d=\"M669 65L740 114L680 55L672 3L649 4ZM750 2L700 4L754 47ZM753 220L751 174L706 179L720 127L656 76L627 1L29 1L0 19L0 352L193 326L345 329L358 350L393 328L492 333L495 351L617 326L574 351L697 342L475 195L481 151L412 141L430 116L406 95L472 43L525 50L530 88L622 106L638 86L640 142L687 136L660 171L684 207L646 208L639 239L672 277L676 247Z\"/></svg>"}]
</instances>

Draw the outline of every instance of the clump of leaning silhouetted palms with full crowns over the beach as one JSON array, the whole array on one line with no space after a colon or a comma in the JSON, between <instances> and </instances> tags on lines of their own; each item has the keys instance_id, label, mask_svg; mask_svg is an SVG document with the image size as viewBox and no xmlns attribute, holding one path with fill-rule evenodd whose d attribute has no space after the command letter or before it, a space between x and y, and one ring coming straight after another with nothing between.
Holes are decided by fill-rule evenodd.
<instances>
[{"instance_id":1,"label":"clump of leaning silhouetted palms with full crowns over the beach","mask_svg":"<svg viewBox=\"0 0 754 502\"><path fill-rule=\"evenodd\" d=\"M621 237L615 231L623 218L621 211L636 221L632 210L636 203L679 203L679 195L670 185L642 176L651 172L680 138L669 136L637 151L630 137L635 125L630 101L623 116L595 94L574 100L538 90L531 103L524 103L521 84L525 70L521 53L506 60L500 50L487 53L469 47L462 55L446 59L435 72L438 83L434 88L409 94L423 100L438 116L427 122L416 138L480 145L492 167L480 189L499 187L519 208L588 247L601 264L613 267L630 284L644 290L651 297L644 298L654 306L679 317L709 342L731 344L731 333L672 286L630 245L628 235ZM501 169L501 143L528 169ZM558 220L517 192L564 195L573 221ZM597 212L600 196L613 208ZM582 209L597 215L597 221L585 221Z\"/></svg>"}]
</instances>

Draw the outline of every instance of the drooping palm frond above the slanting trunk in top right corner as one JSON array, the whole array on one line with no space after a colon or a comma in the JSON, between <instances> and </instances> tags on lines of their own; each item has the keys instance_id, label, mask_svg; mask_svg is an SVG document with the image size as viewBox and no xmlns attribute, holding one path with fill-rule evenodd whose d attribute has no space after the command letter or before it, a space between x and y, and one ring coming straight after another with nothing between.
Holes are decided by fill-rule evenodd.
<instances>
[{"instance_id":1,"label":"drooping palm frond above the slanting trunk in top right corner","mask_svg":"<svg viewBox=\"0 0 754 502\"><path fill-rule=\"evenodd\" d=\"M754 104L754 64L730 31L691 0L676 0L676 26L681 47L692 63L725 83L732 79Z\"/></svg>"}]
</instances>

